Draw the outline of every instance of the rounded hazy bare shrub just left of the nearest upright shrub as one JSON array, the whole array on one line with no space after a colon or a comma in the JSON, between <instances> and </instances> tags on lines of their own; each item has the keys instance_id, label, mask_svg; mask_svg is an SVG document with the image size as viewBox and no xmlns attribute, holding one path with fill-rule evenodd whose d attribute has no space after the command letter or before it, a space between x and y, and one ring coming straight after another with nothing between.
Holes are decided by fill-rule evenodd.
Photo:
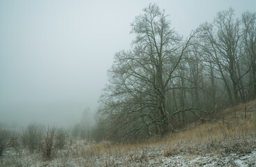
<instances>
[{"instance_id":1,"label":"rounded hazy bare shrub just left of the nearest upright shrub","mask_svg":"<svg viewBox=\"0 0 256 167\"><path fill-rule=\"evenodd\" d=\"M40 149L40 141L43 136L43 128L36 123L31 123L27 129L22 133L22 143L26 147L29 147L29 150L33 152L36 148Z\"/></svg>"}]
</instances>

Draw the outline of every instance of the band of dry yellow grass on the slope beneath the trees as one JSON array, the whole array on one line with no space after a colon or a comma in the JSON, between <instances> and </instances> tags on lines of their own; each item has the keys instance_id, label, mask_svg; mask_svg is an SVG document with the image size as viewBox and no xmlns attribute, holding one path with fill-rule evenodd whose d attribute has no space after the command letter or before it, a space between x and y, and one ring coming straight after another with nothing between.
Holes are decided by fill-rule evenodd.
<instances>
[{"instance_id":1,"label":"band of dry yellow grass on the slope beneath the trees","mask_svg":"<svg viewBox=\"0 0 256 167\"><path fill-rule=\"evenodd\" d=\"M138 154L142 154L144 150L149 150L148 148L163 148L163 154L166 157L182 152L199 154L210 150L220 154L223 152L225 144L236 145L240 141L249 142L248 138L255 136L255 107L256 100L250 101L220 112L220 119L216 122L206 122L182 132L168 134L163 138L151 138L144 143L112 144L109 141L103 141L92 145L87 152L90 156L108 154L122 156L133 153L136 155L134 156L135 160L141 159L141 155L138 157ZM145 154L143 156L145 157Z\"/></svg>"}]
</instances>

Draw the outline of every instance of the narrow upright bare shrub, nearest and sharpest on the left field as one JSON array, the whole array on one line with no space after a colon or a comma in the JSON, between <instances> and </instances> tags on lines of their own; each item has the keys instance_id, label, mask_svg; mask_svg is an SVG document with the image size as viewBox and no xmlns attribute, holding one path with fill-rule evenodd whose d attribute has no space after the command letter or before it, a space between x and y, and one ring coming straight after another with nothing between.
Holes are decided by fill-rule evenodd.
<instances>
[{"instance_id":1,"label":"narrow upright bare shrub, nearest and sharpest on the left field","mask_svg":"<svg viewBox=\"0 0 256 167\"><path fill-rule=\"evenodd\" d=\"M42 152L43 156L47 159L50 159L55 151L56 147L54 145L54 138L56 137L56 127L48 127L45 130L45 136L43 137L43 143L42 143Z\"/></svg>"}]
</instances>

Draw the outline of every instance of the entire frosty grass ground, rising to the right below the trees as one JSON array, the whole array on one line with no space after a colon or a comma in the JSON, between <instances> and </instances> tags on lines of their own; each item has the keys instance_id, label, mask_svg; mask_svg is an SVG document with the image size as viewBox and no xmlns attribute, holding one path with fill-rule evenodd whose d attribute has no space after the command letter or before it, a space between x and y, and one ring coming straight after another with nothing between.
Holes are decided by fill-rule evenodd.
<instances>
[{"instance_id":1,"label":"entire frosty grass ground, rising to the right below the trees","mask_svg":"<svg viewBox=\"0 0 256 167\"><path fill-rule=\"evenodd\" d=\"M256 166L256 101L206 122L144 143L89 143L74 140L45 159L27 148L9 147L0 166Z\"/></svg>"}]
</instances>

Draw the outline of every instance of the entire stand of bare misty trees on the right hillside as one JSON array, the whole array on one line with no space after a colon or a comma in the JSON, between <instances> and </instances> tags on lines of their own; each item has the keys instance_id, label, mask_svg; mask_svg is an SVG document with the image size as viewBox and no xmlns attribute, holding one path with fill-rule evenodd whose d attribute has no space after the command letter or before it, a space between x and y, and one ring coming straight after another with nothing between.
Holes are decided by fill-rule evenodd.
<instances>
[{"instance_id":1,"label":"entire stand of bare misty trees on the right hillside","mask_svg":"<svg viewBox=\"0 0 256 167\"><path fill-rule=\"evenodd\" d=\"M186 22L186 20L181 20ZM133 141L216 120L218 110L256 97L256 13L217 13L183 38L150 4L131 24L100 97L98 140Z\"/></svg>"}]
</instances>

